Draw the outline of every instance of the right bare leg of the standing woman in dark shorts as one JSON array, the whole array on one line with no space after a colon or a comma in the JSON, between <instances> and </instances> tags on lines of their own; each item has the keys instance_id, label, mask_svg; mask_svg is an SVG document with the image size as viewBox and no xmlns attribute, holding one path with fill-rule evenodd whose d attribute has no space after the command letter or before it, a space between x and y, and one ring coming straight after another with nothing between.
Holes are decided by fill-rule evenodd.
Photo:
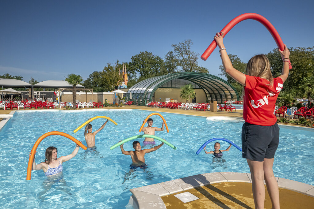
<instances>
[{"instance_id":1,"label":"right bare leg of the standing woman in dark shorts","mask_svg":"<svg viewBox=\"0 0 314 209\"><path fill-rule=\"evenodd\" d=\"M279 209L279 190L278 183L273 173L274 159L264 158L264 179L273 209Z\"/></svg>"}]
</instances>

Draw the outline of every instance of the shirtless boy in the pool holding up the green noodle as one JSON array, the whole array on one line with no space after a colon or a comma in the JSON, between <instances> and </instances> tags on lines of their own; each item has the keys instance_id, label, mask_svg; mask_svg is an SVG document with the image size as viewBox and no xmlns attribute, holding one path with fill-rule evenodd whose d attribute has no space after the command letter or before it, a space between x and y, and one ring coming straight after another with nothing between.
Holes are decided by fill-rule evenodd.
<instances>
[{"instance_id":1,"label":"shirtless boy in the pool holding up the green noodle","mask_svg":"<svg viewBox=\"0 0 314 209\"><path fill-rule=\"evenodd\" d=\"M121 141L122 141L122 140L121 140ZM121 141L120 141L120 142L121 142ZM150 152L156 151L156 150L159 149L162 145L164 145L163 142L162 142L160 145L155 146L155 147L153 147L153 148L141 150L141 144L140 144L138 141L134 141L134 142L133 142L133 148L135 149L134 151L133 151L133 150L131 150L131 151L125 151L125 150L123 149L123 144L120 145L120 148L121 148L122 154L131 155L132 164L141 165L141 164L144 164L144 163L145 163L144 155L145 155L146 153L150 153Z\"/></svg>"}]
</instances>

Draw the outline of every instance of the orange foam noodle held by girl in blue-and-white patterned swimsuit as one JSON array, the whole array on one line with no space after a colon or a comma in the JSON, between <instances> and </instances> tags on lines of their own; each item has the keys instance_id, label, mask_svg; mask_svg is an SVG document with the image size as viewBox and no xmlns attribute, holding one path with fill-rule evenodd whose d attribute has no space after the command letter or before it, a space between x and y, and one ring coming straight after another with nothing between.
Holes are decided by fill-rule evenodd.
<instances>
[{"instance_id":1,"label":"orange foam noodle held by girl in blue-and-white patterned swimsuit","mask_svg":"<svg viewBox=\"0 0 314 209\"><path fill-rule=\"evenodd\" d=\"M63 133L63 132L60 132L60 131L51 131L51 132L43 134L41 137L39 137L37 139L37 141L35 142L35 144L34 144L34 146L32 148L30 159L28 160L28 165L27 165L26 180L30 180L30 176L32 175L32 165L33 165L33 160L34 160L35 152L36 152L36 149L37 149L38 145L41 143L41 141L44 138L46 138L47 136L51 136L51 135L64 136L66 138L71 139L76 144L78 144L78 146L80 146L82 149L84 149L84 150L87 149L87 147L85 147L80 141L78 141L76 138L74 138L73 136L71 136L71 135L69 135L67 133Z\"/></svg>"}]
</instances>

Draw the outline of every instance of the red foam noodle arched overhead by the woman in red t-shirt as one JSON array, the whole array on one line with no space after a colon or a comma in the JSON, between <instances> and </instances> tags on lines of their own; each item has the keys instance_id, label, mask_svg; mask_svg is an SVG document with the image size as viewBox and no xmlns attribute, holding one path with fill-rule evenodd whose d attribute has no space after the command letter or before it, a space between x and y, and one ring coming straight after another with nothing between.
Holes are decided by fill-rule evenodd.
<instances>
[{"instance_id":1,"label":"red foam noodle arched overhead by the woman in red t-shirt","mask_svg":"<svg viewBox=\"0 0 314 209\"><path fill-rule=\"evenodd\" d=\"M259 15L256 13L245 13L245 14L241 14L238 17L232 19L221 30L221 32L224 33L224 37L225 37L225 35L227 35L227 33L230 31L230 29L233 28L236 24L240 23L243 20L247 20L247 19L253 19L253 20L256 20L256 21L260 22L261 24L263 24L268 29L269 33L273 36L273 39L275 40L278 48L281 51L284 50L284 43L282 42L282 40L281 40L277 30L274 28L274 26L266 18L264 18L262 15ZM221 35L221 33L220 33L220 35ZM217 46L217 43L215 40L213 40L212 43L208 46L208 48L205 50L205 52L201 56L202 60L207 60L207 58L214 51L216 46ZM289 60L289 69L292 69L290 60Z\"/></svg>"}]
</instances>

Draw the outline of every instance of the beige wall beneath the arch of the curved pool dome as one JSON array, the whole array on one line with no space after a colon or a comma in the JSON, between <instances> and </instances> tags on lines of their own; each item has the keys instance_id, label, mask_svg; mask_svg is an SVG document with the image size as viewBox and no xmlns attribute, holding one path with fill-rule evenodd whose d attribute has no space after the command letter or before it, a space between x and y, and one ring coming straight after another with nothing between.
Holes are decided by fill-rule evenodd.
<instances>
[{"instance_id":1,"label":"beige wall beneath the arch of the curved pool dome","mask_svg":"<svg viewBox=\"0 0 314 209\"><path fill-rule=\"evenodd\" d=\"M196 102L205 103L206 94L203 89L194 89L196 93ZM178 101L175 102L187 102L186 99L181 99L180 97L181 88L158 88L155 91L155 101L159 101L159 98L178 98ZM192 102L192 99L190 100Z\"/></svg>"}]
</instances>

